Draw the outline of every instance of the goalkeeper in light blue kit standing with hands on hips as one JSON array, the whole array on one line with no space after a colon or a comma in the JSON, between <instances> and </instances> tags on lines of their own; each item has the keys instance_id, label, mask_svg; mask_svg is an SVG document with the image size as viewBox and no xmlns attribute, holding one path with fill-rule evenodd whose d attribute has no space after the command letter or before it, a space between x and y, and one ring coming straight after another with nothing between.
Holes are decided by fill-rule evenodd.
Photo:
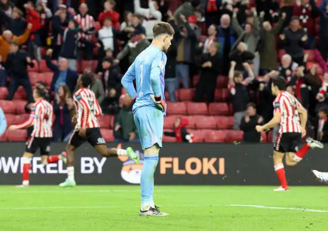
<instances>
[{"instance_id":1,"label":"goalkeeper in light blue kit standing with hands on hips","mask_svg":"<svg viewBox=\"0 0 328 231\"><path fill-rule=\"evenodd\" d=\"M123 76L121 83L135 100L134 122L138 128L145 161L141 171L140 216L168 216L160 213L153 201L154 172L162 147L163 120L166 114L164 74L167 57L174 35L172 26L159 22L153 27L152 44L142 51ZM137 92L133 86L136 79Z\"/></svg>"}]
</instances>

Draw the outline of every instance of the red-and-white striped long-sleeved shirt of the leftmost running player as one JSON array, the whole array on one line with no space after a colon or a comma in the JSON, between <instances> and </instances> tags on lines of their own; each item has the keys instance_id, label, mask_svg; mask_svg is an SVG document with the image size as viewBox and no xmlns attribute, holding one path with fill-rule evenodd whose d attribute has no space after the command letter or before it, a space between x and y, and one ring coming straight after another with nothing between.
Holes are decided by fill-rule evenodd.
<instances>
[{"instance_id":1,"label":"red-and-white striped long-sleeved shirt of the leftmost running player","mask_svg":"<svg viewBox=\"0 0 328 231\"><path fill-rule=\"evenodd\" d=\"M17 124L16 128L27 128L33 125L31 137L52 137L52 115L51 104L44 99L39 100L33 104L29 119L24 123Z\"/></svg>"}]
</instances>

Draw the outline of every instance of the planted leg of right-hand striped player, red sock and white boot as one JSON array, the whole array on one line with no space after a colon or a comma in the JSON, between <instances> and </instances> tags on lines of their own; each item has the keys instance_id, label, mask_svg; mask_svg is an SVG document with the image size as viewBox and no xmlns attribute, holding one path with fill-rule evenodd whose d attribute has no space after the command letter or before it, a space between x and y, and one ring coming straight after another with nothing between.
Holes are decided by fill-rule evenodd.
<instances>
[{"instance_id":1,"label":"planted leg of right-hand striped player, red sock and white boot","mask_svg":"<svg viewBox=\"0 0 328 231\"><path fill-rule=\"evenodd\" d=\"M285 169L282 162L286 145L288 145L288 142L286 144L285 134L279 134L274 144L273 164L281 186L279 188L274 189L274 191L289 190L285 176Z\"/></svg>"}]
</instances>

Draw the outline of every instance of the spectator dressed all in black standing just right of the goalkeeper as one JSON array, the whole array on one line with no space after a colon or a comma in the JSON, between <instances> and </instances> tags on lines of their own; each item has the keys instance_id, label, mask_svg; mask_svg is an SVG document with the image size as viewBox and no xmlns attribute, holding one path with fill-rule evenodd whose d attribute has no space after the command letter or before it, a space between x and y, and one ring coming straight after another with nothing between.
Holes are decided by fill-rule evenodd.
<instances>
[{"instance_id":1,"label":"spectator dressed all in black standing just right of the goalkeeper","mask_svg":"<svg viewBox=\"0 0 328 231\"><path fill-rule=\"evenodd\" d=\"M217 76L221 71L221 57L218 53L219 44L214 42L209 46L209 53L201 56L200 79L196 87L195 101L202 102L204 94L207 102L214 102Z\"/></svg>"}]
</instances>

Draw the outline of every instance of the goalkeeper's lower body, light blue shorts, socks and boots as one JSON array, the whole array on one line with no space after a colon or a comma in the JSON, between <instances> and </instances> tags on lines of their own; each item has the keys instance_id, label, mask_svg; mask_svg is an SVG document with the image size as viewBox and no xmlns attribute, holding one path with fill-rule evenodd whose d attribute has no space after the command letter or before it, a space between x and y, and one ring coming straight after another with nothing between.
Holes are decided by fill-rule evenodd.
<instances>
[{"instance_id":1,"label":"goalkeeper's lower body, light blue shorts, socks and boots","mask_svg":"<svg viewBox=\"0 0 328 231\"><path fill-rule=\"evenodd\" d=\"M154 172L158 163L159 149L162 147L163 113L154 107L141 107L134 113L141 147L145 154L141 170L141 208L140 216L167 216L161 213L153 201Z\"/></svg>"}]
</instances>

